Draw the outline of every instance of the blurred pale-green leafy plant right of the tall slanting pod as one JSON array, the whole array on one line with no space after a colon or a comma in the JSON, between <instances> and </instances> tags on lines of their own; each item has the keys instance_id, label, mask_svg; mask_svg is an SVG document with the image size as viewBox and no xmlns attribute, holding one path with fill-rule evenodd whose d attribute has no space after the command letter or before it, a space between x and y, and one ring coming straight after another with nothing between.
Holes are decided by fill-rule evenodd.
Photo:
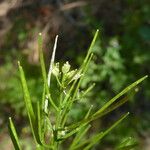
<instances>
[{"instance_id":1,"label":"blurred pale-green leafy plant right of the tall slanting pod","mask_svg":"<svg viewBox=\"0 0 150 150\"><path fill-rule=\"evenodd\" d=\"M82 87L86 87L91 81L98 83L96 89L99 92L91 93L91 95L96 97L96 101L99 101L100 98L102 102L111 96L107 94L107 90L110 90L110 93L111 91L117 93L125 86L127 76L125 75L124 59L120 56L120 46L116 38L111 39L104 50L101 47L100 39L98 39L93 49L95 57L89 67L92 69L88 69Z\"/></svg>"}]
</instances>

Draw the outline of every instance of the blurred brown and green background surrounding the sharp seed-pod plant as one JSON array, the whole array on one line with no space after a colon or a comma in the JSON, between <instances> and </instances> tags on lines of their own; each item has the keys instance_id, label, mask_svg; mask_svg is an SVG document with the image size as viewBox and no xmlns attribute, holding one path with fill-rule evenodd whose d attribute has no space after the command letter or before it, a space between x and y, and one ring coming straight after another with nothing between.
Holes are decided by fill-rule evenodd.
<instances>
[{"instance_id":1,"label":"blurred brown and green background surrounding the sharp seed-pod plant","mask_svg":"<svg viewBox=\"0 0 150 150\"><path fill-rule=\"evenodd\" d=\"M7 131L9 116L24 139L25 150L32 149L17 61L23 64L34 103L42 93L38 33L43 34L47 66L58 34L56 60L69 61L77 68L96 29L100 35L82 88L92 82L96 87L71 112L77 120L89 105L97 109L130 83L149 75L149 0L0 0L0 149L13 149ZM93 123L91 134L109 126L123 112L131 112L105 137L101 149L115 149L128 136L138 143L137 149L150 149L150 79L137 89L126 105Z\"/></svg>"}]
</instances>

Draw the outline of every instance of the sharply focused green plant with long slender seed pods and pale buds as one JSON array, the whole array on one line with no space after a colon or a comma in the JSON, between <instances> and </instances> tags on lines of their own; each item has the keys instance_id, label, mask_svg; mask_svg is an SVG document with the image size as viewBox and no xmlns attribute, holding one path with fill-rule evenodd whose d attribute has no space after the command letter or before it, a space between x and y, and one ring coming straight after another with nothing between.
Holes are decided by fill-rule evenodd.
<instances>
[{"instance_id":1,"label":"sharply focused green plant with long slender seed pods and pale buds","mask_svg":"<svg viewBox=\"0 0 150 150\"><path fill-rule=\"evenodd\" d=\"M91 127L91 122L101 118L102 116L108 114L114 109L118 108L124 104L127 100L122 99L122 96L129 92L131 89L135 88L139 83L141 83L147 76L140 78L136 82L132 83L119 94L117 94L110 101L106 102L104 106L99 108L96 112L93 112L92 106L88 106L85 117L81 120L71 121L69 120L69 113L73 109L75 103L79 103L83 100L82 97L86 96L87 92L93 88L88 87L87 90L80 91L81 82L85 77L87 68L89 67L90 61L93 57L93 46L98 36L98 31L96 32L93 41L89 47L88 53L78 70L71 70L71 66L68 62L60 66L58 63L54 63L55 50L57 44L57 37L55 40L54 50L52 54L52 59L50 63L50 69L48 76L46 73L46 68L44 64L44 58L42 53L42 37L39 34L39 54L40 54L40 64L43 77L43 94L41 99L37 99L36 108L33 107L31 96L28 90L25 74L22 66L19 63L20 79L24 94L24 103L26 106L26 111L28 113L28 118L32 130L32 135L34 137L36 149L61 149L64 142L70 142L68 149L91 149L95 144L100 142L104 136L106 136L112 129L114 129L122 120L124 120L129 113L123 114L120 119L118 119L113 125L104 131L96 133L92 137L88 138L85 134ZM115 57L116 58L116 57ZM56 80L56 89L51 86L51 78ZM57 96L55 91L57 91ZM85 102L86 105L86 102ZM11 138L16 148L18 146L18 138L12 121L10 122L10 133ZM12 127L13 126L13 127ZM69 138L69 139L68 139ZM17 144L16 144L17 143ZM122 144L119 148L133 148L133 144L129 143ZM66 146L65 146L66 149Z\"/></svg>"}]
</instances>

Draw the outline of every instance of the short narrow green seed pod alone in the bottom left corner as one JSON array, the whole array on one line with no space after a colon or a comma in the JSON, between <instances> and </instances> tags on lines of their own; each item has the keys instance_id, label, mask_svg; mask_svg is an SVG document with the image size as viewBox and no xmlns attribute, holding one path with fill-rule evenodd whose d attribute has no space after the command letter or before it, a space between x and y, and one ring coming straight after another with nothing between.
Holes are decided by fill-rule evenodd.
<instances>
[{"instance_id":1,"label":"short narrow green seed pod alone in the bottom left corner","mask_svg":"<svg viewBox=\"0 0 150 150\"><path fill-rule=\"evenodd\" d=\"M11 140L13 142L13 145L15 147L15 150L21 150L18 135L17 135L16 129L12 122L11 117L9 117L8 129L9 129L9 134L10 134Z\"/></svg>"}]
</instances>

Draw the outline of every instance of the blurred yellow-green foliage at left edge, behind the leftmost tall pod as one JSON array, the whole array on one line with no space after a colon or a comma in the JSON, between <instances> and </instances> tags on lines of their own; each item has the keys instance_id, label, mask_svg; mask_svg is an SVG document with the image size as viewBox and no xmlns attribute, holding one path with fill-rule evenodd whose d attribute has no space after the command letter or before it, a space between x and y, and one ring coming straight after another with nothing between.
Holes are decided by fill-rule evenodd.
<instances>
[{"instance_id":1,"label":"blurred yellow-green foliage at left edge, behind the leftmost tall pod","mask_svg":"<svg viewBox=\"0 0 150 150\"><path fill-rule=\"evenodd\" d=\"M17 61L14 56L19 57L17 52L13 52L12 58L10 55L6 56L5 63L0 66L0 99L1 111L0 115L3 119L2 124L5 124L5 116L11 113L16 114L16 119L26 117L27 113L24 107L23 94L19 82L19 72L17 69ZM21 56L23 58L23 56ZM23 60L23 59L22 59ZM24 60L23 60L24 61ZM32 102L36 102L37 98L41 95L42 80L39 78L38 71L34 71L37 66L31 66L24 61L24 65L28 75L28 86L32 92Z\"/></svg>"}]
</instances>

